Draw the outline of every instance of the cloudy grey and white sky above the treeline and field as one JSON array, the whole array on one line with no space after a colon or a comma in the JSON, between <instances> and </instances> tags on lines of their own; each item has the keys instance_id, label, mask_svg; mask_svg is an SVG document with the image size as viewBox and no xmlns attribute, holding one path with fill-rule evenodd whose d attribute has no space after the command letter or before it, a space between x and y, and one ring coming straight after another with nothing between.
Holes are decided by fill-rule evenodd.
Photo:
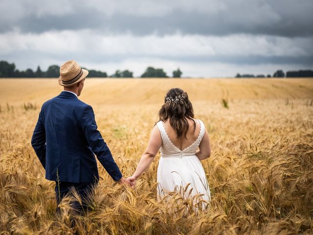
<instances>
[{"instance_id":1,"label":"cloudy grey and white sky above the treeline and field","mask_svg":"<svg viewBox=\"0 0 313 235\"><path fill-rule=\"evenodd\" d=\"M0 60L226 77L313 69L313 0L0 0Z\"/></svg>"}]
</instances>

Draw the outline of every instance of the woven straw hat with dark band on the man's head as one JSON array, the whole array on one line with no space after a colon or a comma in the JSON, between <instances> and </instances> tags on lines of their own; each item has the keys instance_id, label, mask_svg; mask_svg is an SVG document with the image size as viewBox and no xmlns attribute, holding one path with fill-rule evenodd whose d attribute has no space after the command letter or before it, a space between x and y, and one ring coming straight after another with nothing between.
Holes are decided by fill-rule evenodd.
<instances>
[{"instance_id":1,"label":"woven straw hat with dark band on the man's head","mask_svg":"<svg viewBox=\"0 0 313 235\"><path fill-rule=\"evenodd\" d=\"M73 86L83 80L89 71L82 69L75 60L65 62L60 68L59 84L64 87Z\"/></svg>"}]
</instances>

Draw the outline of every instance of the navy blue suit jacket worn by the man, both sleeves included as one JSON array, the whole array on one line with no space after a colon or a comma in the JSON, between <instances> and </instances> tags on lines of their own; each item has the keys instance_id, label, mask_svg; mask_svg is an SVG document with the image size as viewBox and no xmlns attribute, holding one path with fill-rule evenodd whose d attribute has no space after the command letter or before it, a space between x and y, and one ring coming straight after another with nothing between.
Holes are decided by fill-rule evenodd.
<instances>
[{"instance_id":1,"label":"navy blue suit jacket worn by the man, both sleeves included","mask_svg":"<svg viewBox=\"0 0 313 235\"><path fill-rule=\"evenodd\" d=\"M92 107L75 94L63 91L43 104L31 144L45 168L47 180L73 183L99 180L94 154L114 181L122 177L97 130Z\"/></svg>"}]
</instances>

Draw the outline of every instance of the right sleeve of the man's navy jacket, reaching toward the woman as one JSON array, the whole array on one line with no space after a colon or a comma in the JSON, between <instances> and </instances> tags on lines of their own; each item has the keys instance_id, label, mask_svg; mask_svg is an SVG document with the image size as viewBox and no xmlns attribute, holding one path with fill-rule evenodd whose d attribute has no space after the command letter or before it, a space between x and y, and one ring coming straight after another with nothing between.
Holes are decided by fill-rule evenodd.
<instances>
[{"instance_id":1,"label":"right sleeve of the man's navy jacket, reaching toward the woman","mask_svg":"<svg viewBox=\"0 0 313 235\"><path fill-rule=\"evenodd\" d=\"M89 105L84 109L82 114L81 126L84 136L92 151L97 156L99 162L103 165L114 181L120 180L122 178L122 173L120 172L117 164L114 162L109 147L102 139L100 132L97 130L94 113L92 107Z\"/></svg>"}]
</instances>

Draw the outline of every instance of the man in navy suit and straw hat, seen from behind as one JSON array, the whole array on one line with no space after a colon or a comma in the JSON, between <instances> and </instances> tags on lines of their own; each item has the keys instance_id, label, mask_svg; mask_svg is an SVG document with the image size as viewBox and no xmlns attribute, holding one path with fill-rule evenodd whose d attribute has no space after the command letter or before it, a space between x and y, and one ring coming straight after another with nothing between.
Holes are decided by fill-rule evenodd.
<instances>
[{"instance_id":1,"label":"man in navy suit and straw hat, seen from behind","mask_svg":"<svg viewBox=\"0 0 313 235\"><path fill-rule=\"evenodd\" d=\"M71 206L80 213L88 209L88 197L99 181L94 154L114 181L134 185L114 162L97 130L92 107L78 99L87 75L73 60L61 66L59 84L64 91L43 104L31 140L45 178L56 182L57 204L75 188L82 204L74 201Z\"/></svg>"}]
</instances>

